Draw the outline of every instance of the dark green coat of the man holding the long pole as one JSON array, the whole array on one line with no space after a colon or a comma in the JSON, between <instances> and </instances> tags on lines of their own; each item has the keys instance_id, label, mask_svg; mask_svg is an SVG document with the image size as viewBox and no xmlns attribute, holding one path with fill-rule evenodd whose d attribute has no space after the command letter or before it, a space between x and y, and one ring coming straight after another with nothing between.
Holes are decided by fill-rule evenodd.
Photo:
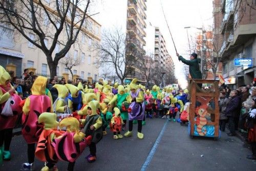
<instances>
[{"instance_id":1,"label":"dark green coat of the man holding the long pole","mask_svg":"<svg viewBox=\"0 0 256 171\"><path fill-rule=\"evenodd\" d=\"M202 73L199 68L200 59L186 60L182 56L179 56L179 60L189 66L189 74L193 79L202 79Z\"/></svg>"}]
</instances>

